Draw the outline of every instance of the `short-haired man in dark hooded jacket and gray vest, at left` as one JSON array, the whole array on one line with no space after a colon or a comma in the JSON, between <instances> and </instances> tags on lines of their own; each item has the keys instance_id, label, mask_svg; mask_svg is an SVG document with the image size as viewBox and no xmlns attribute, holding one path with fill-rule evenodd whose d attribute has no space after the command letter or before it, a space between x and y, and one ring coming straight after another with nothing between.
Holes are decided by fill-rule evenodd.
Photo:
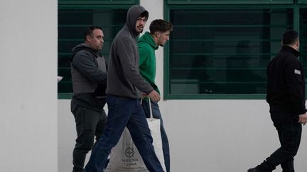
<instances>
[{"instance_id":1,"label":"short-haired man in dark hooded jacket and gray vest, at left","mask_svg":"<svg viewBox=\"0 0 307 172\"><path fill-rule=\"evenodd\" d=\"M75 117L77 139L73 150L73 172L84 171L85 156L102 135L107 116L104 113L107 88L107 65L102 50L102 28L91 26L85 31L85 42L72 49L71 111Z\"/></svg>"}]
</instances>

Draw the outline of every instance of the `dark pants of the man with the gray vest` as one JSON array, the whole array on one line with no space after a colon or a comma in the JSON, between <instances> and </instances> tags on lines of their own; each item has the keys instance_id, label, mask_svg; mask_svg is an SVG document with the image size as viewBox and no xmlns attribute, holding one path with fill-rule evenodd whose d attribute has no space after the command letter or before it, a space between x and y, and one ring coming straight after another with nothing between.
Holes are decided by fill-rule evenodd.
<instances>
[{"instance_id":1,"label":"dark pants of the man with the gray vest","mask_svg":"<svg viewBox=\"0 0 307 172\"><path fill-rule=\"evenodd\" d=\"M72 153L73 172L84 171L86 154L94 147L96 141L101 137L107 115L102 112L85 108L81 105L71 103L71 112L75 117L77 139L75 149Z\"/></svg>"}]
</instances>

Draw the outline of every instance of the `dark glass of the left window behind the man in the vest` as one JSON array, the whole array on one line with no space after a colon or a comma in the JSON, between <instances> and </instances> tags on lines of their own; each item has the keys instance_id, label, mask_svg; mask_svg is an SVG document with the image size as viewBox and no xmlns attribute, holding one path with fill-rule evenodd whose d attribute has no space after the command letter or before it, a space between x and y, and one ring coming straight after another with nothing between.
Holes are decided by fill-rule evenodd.
<instances>
[{"instance_id":1,"label":"dark glass of the left window behind the man in the vest","mask_svg":"<svg viewBox=\"0 0 307 172\"><path fill-rule=\"evenodd\" d=\"M70 57L72 47L84 42L85 28L102 27L102 55L109 57L112 39L126 22L126 9L59 9L58 10L58 93L72 93Z\"/></svg>"}]
</instances>

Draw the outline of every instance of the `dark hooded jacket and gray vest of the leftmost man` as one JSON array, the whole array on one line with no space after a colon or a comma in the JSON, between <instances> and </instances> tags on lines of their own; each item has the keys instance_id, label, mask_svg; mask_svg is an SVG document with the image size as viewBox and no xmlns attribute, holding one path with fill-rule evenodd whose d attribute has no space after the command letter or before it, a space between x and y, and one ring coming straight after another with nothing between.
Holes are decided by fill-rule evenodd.
<instances>
[{"instance_id":1,"label":"dark hooded jacket and gray vest of the leftmost man","mask_svg":"<svg viewBox=\"0 0 307 172\"><path fill-rule=\"evenodd\" d=\"M88 45L72 49L72 103L103 111L107 87L107 64L102 55Z\"/></svg>"}]
</instances>

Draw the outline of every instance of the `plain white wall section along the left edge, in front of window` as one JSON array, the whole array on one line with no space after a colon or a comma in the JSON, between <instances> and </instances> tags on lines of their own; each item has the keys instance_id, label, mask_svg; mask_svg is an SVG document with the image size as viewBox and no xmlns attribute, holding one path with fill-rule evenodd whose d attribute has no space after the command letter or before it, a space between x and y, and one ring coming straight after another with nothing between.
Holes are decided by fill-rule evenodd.
<instances>
[{"instance_id":1,"label":"plain white wall section along the left edge, in front of window","mask_svg":"<svg viewBox=\"0 0 307 172\"><path fill-rule=\"evenodd\" d=\"M58 171L57 1L0 1L1 171Z\"/></svg>"}]
</instances>

